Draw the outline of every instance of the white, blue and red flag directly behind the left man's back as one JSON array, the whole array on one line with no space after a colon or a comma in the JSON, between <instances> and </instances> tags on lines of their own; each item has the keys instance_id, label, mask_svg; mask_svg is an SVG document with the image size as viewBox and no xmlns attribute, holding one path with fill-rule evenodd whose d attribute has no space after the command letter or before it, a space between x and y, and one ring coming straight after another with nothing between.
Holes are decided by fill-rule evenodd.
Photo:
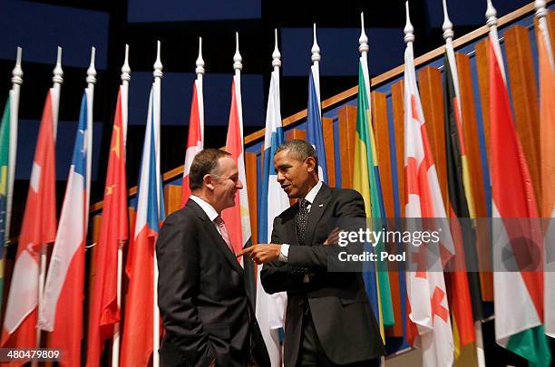
<instances>
[{"instance_id":1,"label":"white, blue and red flag directly behind the left man's back","mask_svg":"<svg viewBox=\"0 0 555 367\"><path fill-rule=\"evenodd\" d=\"M125 302L125 324L121 364L146 366L153 345L154 246L164 219L160 173L160 88L153 84L149 97L147 126L142 148L137 196L137 218L126 264L129 289ZM158 351L156 351L158 352Z\"/></svg>"}]
</instances>

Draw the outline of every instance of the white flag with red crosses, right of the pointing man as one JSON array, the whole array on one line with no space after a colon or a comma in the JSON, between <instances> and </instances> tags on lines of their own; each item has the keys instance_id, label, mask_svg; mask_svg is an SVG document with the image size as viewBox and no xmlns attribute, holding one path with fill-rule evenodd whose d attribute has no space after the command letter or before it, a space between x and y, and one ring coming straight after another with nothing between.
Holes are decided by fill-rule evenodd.
<instances>
[{"instance_id":1,"label":"white flag with red crosses, right of the pointing man","mask_svg":"<svg viewBox=\"0 0 555 367\"><path fill-rule=\"evenodd\" d=\"M420 217L445 217L442 193L426 134L424 111L416 86L412 42L407 43L404 52L404 180L407 221L418 222L414 218ZM441 221L437 222L441 225ZM442 246L439 248L430 244L418 248L408 246L409 261L417 260L419 255L429 256L433 251L433 256L442 260L452 256L453 239L449 230L443 230L442 235ZM453 330L442 264L430 270L428 265L416 271L407 271L406 288L409 315L407 339L422 348L424 365L452 365Z\"/></svg>"}]
</instances>

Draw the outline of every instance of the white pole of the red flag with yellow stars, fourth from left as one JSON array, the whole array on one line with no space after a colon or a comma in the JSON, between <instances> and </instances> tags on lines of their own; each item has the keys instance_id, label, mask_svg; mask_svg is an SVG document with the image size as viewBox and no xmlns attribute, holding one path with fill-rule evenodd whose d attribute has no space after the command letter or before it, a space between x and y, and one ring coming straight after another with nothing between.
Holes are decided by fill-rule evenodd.
<instances>
[{"instance_id":1,"label":"white pole of the red flag with yellow stars, fourth from left","mask_svg":"<svg viewBox=\"0 0 555 367\"><path fill-rule=\"evenodd\" d=\"M125 156L125 147L127 142L127 93L129 90L129 81L131 81L131 68L129 67L129 44L125 45L125 60L122 66L122 130L123 130L123 149L122 154ZM122 270L123 270L123 246L125 241L120 241L118 246L118 275L117 275L117 304L118 309L122 309ZM120 323L113 325L113 342L112 342L112 367L120 365Z\"/></svg>"}]
</instances>

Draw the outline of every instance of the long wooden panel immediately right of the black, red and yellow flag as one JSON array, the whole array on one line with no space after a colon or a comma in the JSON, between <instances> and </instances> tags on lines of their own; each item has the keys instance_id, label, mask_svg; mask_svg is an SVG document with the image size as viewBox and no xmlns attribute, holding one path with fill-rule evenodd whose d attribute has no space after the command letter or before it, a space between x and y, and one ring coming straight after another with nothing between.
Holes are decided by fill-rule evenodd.
<instances>
[{"instance_id":1,"label":"long wooden panel immediately right of the black, red and yellow flag","mask_svg":"<svg viewBox=\"0 0 555 367\"><path fill-rule=\"evenodd\" d=\"M470 169L475 215L476 217L488 217L483 187L482 156L480 155L476 108L474 106L470 58L465 53L456 53L455 57L461 89L464 148L466 149L466 157ZM486 226L485 221L478 220L476 222L476 248L480 269L492 268L492 249L489 243L489 228ZM482 299L484 301L493 301L493 275L491 272L482 272L480 274L480 285L482 288Z\"/></svg>"}]
</instances>

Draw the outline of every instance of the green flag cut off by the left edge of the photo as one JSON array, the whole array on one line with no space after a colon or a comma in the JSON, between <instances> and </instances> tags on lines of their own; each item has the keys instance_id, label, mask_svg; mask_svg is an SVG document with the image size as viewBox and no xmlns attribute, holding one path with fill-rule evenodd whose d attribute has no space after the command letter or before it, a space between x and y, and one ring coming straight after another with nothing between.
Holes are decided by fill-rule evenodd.
<instances>
[{"instance_id":1,"label":"green flag cut off by the left edge of the photo","mask_svg":"<svg viewBox=\"0 0 555 367\"><path fill-rule=\"evenodd\" d=\"M11 92L10 92L11 94ZM8 169L10 165L10 97L5 102L4 115L0 125L0 304L4 294L4 247L9 238L6 234L10 228L8 220L7 198L9 196L10 176Z\"/></svg>"}]
</instances>

